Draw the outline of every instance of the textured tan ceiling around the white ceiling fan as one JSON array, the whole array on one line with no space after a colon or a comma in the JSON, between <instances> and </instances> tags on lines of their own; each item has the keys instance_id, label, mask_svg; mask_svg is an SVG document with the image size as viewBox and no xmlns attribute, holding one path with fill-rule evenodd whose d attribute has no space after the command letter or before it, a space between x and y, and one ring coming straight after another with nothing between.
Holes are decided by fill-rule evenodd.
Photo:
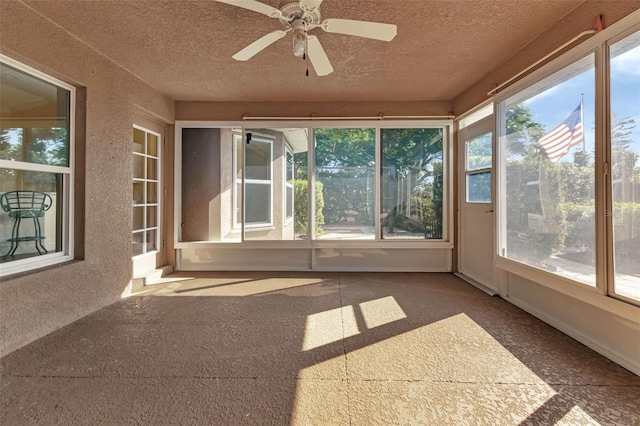
<instances>
[{"instance_id":1,"label":"textured tan ceiling around the white ceiling fan","mask_svg":"<svg viewBox=\"0 0 640 426\"><path fill-rule=\"evenodd\" d=\"M305 76L290 35L233 60L283 26L213 0L24 3L172 99L247 102L452 100L583 1L324 0L322 19L398 26L391 42L314 29L335 70L326 77Z\"/></svg>"}]
</instances>

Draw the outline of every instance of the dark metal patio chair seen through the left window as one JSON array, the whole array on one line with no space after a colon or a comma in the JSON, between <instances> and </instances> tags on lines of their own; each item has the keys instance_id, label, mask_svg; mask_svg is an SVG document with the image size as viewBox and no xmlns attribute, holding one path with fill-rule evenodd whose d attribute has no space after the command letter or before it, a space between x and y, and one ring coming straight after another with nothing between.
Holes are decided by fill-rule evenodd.
<instances>
[{"instance_id":1,"label":"dark metal patio chair seen through the left window","mask_svg":"<svg viewBox=\"0 0 640 426\"><path fill-rule=\"evenodd\" d=\"M51 208L52 203L53 200L49 194L39 191L9 191L0 196L0 207L14 221L11 228L11 238L7 240L11 243L11 248L2 259L7 258L7 256L13 256L23 241L34 241L38 254L48 253L42 244L45 236L42 235L40 218ZM33 235L20 236L20 222L22 219L33 220Z\"/></svg>"}]
</instances>

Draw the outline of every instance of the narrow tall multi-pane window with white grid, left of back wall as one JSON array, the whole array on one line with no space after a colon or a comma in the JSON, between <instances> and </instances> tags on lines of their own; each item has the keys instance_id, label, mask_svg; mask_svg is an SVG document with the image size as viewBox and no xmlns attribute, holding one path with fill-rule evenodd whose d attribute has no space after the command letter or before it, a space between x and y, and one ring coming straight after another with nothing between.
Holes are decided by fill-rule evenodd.
<instances>
[{"instance_id":1,"label":"narrow tall multi-pane window with white grid, left of back wall","mask_svg":"<svg viewBox=\"0 0 640 426\"><path fill-rule=\"evenodd\" d=\"M160 135L133 129L132 255L155 252L160 238Z\"/></svg>"}]
</instances>

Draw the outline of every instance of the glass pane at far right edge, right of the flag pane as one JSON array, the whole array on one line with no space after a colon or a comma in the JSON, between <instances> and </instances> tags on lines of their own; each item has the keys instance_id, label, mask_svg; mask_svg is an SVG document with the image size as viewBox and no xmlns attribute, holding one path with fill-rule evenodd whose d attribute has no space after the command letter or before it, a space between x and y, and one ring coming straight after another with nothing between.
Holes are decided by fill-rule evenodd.
<instances>
[{"instance_id":1,"label":"glass pane at far right edge, right of the flag pane","mask_svg":"<svg viewBox=\"0 0 640 426\"><path fill-rule=\"evenodd\" d=\"M614 291L640 301L640 31L610 57Z\"/></svg>"}]
</instances>

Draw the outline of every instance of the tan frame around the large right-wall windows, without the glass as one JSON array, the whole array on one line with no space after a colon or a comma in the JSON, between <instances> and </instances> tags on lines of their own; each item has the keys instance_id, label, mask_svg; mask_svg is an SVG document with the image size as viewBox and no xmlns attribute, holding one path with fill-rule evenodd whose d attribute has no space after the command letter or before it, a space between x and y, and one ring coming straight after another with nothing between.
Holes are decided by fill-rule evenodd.
<instances>
[{"instance_id":1,"label":"tan frame around the large right-wall windows, without the glass","mask_svg":"<svg viewBox=\"0 0 640 426\"><path fill-rule=\"evenodd\" d=\"M502 135L500 129L505 126L504 111L502 102L511 96L514 96L523 90L531 87L541 80L551 76L557 71L571 65L572 63L582 59L583 57L594 54L595 69L595 156L594 156L594 178L595 178L595 286L589 286L585 283L572 280L568 277L560 276L549 271L541 270L511 259L508 259L500 253L495 257L495 264L498 268L507 272L521 276L528 280L540 283L543 286L560 291L561 293L570 295L578 300L596 305L607 307L616 306L624 315L632 315L634 309L640 305L638 301L620 297L613 293L611 286L612 280L612 241L607 238L611 234L612 218L607 213L611 201L610 176L608 175L609 149L611 147L610 140L610 104L609 104L609 63L607 58L608 45L614 41L624 38L625 35L631 34L640 29L637 23L637 13L631 14L623 18L615 26L605 29L598 34L593 35L590 39L580 45L569 50L565 54L543 65L539 69L533 71L521 80L515 82L511 86L503 89L494 95L493 102L495 107L495 129L498 138L496 173L496 215L498 223L505 222L505 209L503 193L505 190L505 182L503 176L505 174L506 159L503 146ZM498 247L504 246L504 233L499 233ZM603 298L603 296L605 296ZM635 314L633 314L635 315Z\"/></svg>"}]
</instances>

